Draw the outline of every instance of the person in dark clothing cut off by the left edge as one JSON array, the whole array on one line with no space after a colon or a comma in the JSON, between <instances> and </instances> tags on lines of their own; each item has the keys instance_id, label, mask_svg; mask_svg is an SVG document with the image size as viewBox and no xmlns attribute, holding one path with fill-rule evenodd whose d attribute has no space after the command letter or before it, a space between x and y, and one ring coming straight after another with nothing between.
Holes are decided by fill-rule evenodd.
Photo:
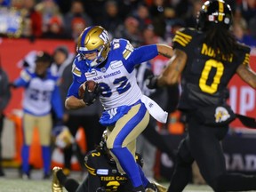
<instances>
[{"instance_id":1,"label":"person in dark clothing cut off by the left edge","mask_svg":"<svg viewBox=\"0 0 256 192\"><path fill-rule=\"evenodd\" d=\"M4 68L0 65L0 177L4 176L2 166L2 146L1 137L4 128L4 108L8 105L11 99L11 92L9 88L9 78Z\"/></svg>"}]
</instances>

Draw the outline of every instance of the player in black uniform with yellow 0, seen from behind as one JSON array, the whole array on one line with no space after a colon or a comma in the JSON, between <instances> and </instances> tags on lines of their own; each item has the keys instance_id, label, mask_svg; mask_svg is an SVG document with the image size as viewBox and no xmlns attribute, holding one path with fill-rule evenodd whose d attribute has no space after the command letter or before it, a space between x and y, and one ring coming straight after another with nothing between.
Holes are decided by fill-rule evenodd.
<instances>
[{"instance_id":1,"label":"player in black uniform with yellow 0, seen from behind","mask_svg":"<svg viewBox=\"0 0 256 192\"><path fill-rule=\"evenodd\" d=\"M226 89L237 74L256 88L249 66L250 48L238 44L232 31L232 12L222 0L207 1L197 16L197 28L182 28L173 38L174 55L148 87L177 84L181 75L178 108L186 113L188 135L180 142L177 164L168 191L182 191L196 161L214 191L256 189L256 175L228 173L220 146L235 115L226 103Z\"/></svg>"}]
</instances>

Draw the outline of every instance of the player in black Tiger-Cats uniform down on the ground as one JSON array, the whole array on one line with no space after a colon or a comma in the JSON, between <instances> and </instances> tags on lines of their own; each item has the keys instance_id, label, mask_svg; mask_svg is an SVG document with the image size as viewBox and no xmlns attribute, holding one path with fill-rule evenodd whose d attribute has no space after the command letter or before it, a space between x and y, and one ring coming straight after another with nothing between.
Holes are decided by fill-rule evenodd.
<instances>
[{"instance_id":1,"label":"player in black Tiger-Cats uniform down on the ground","mask_svg":"<svg viewBox=\"0 0 256 192\"><path fill-rule=\"evenodd\" d=\"M106 146L107 131L103 132L100 146L90 151L84 158L84 164L88 171L88 177L79 183L62 172L60 167L53 168L52 192L62 192L62 186L68 192L131 192L132 182L125 174L118 172L116 162L108 152ZM143 165L140 154L136 154L136 162ZM144 178L146 192L166 192L167 188Z\"/></svg>"}]
</instances>

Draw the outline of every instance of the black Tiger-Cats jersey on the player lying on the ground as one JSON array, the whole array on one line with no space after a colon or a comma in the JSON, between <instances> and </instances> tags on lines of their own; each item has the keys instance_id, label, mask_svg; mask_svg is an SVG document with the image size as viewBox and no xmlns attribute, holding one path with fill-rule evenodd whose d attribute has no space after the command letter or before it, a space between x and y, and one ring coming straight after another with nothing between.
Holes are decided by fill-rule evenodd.
<instances>
[{"instance_id":1,"label":"black Tiger-Cats jersey on the player lying on the ground","mask_svg":"<svg viewBox=\"0 0 256 192\"><path fill-rule=\"evenodd\" d=\"M110 160L102 150L93 150L85 156L84 161L89 172L89 191L96 191L100 187L105 188L106 192L132 191L131 181L118 172L114 160ZM140 154L136 154L136 162L142 164Z\"/></svg>"}]
</instances>

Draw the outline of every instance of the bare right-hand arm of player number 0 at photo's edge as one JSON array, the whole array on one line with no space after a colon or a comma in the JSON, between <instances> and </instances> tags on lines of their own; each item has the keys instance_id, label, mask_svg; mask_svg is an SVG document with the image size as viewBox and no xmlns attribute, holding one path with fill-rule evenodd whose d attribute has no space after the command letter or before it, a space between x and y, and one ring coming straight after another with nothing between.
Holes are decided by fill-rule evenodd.
<instances>
[{"instance_id":1,"label":"bare right-hand arm of player number 0 at photo's edge","mask_svg":"<svg viewBox=\"0 0 256 192\"><path fill-rule=\"evenodd\" d=\"M253 89L256 89L256 73L252 71L249 65L240 65L236 69L236 74L240 76L246 84L249 84Z\"/></svg>"}]
</instances>

